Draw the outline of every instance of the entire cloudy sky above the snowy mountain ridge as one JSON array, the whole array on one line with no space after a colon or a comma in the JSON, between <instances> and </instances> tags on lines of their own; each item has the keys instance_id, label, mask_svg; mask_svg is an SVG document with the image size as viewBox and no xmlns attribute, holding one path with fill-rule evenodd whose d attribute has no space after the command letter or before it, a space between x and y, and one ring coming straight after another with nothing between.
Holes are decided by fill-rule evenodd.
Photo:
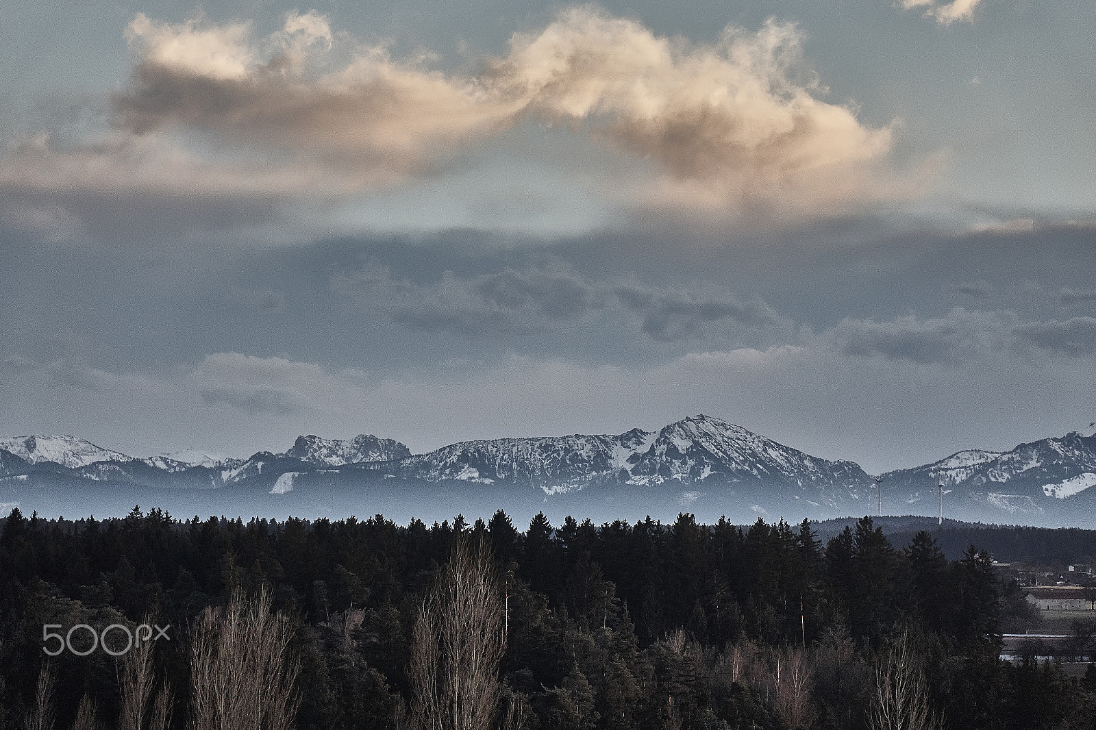
<instances>
[{"instance_id":1,"label":"entire cloudy sky above the snowy mountain ridge","mask_svg":"<svg viewBox=\"0 0 1096 730\"><path fill-rule=\"evenodd\" d=\"M0 7L0 433L1096 419L1091 2Z\"/></svg>"}]
</instances>

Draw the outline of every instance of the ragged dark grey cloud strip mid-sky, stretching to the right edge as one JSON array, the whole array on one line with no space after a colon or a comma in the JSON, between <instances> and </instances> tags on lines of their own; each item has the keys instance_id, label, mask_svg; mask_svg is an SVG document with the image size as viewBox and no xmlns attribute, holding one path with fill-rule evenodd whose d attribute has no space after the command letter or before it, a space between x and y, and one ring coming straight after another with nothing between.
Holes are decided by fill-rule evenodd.
<instances>
[{"instance_id":1,"label":"ragged dark grey cloud strip mid-sky, stretching to the right edge","mask_svg":"<svg viewBox=\"0 0 1096 730\"><path fill-rule=\"evenodd\" d=\"M589 331L633 327L649 343L673 344L677 352L696 343L752 351L790 346L853 357L882 357L920 365L962 365L1002 353L1037 357L1086 356L1096 347L1093 323L1024 319L1009 310L969 310L891 319L845 317L812 330L763 299L730 292L671 288L636 280L590 281L552 265L503 267L494 273L413 282L384 264L366 263L331 280L347 305L404 327L498 338L570 337L575 322ZM983 281L948 285L948 290L985 299ZM1084 294L1066 292L1070 300ZM512 343L513 344L513 343Z\"/></svg>"}]
</instances>

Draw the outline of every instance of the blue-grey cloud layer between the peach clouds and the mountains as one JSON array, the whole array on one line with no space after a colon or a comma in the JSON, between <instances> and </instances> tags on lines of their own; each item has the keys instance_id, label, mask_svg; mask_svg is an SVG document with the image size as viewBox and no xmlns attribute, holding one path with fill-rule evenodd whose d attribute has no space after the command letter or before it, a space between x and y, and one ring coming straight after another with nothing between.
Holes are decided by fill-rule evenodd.
<instances>
[{"instance_id":1,"label":"blue-grey cloud layer between the peach clouds and the mountains","mask_svg":"<svg viewBox=\"0 0 1096 730\"><path fill-rule=\"evenodd\" d=\"M148 453L298 432L421 449L713 412L882 469L1096 411L1096 301L1062 297L1091 290L1091 228L689 237L134 249L7 231L0 431Z\"/></svg>"}]
</instances>

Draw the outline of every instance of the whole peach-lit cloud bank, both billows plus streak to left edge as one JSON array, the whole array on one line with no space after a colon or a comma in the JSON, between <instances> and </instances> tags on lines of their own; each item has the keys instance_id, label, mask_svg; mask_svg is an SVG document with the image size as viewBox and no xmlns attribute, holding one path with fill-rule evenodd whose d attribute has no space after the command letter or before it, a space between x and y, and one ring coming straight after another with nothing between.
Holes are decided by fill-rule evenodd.
<instances>
[{"instance_id":1,"label":"whole peach-lit cloud bank, both billows plus streak to left edge","mask_svg":"<svg viewBox=\"0 0 1096 730\"><path fill-rule=\"evenodd\" d=\"M265 37L138 14L125 36L111 127L0 152L0 215L60 238L255 226L436 176L526 122L621 156L638 172L598 190L628 210L831 213L911 190L888 173L892 127L823 101L800 33L772 21L692 44L571 9L480 73L358 45L316 12Z\"/></svg>"}]
</instances>

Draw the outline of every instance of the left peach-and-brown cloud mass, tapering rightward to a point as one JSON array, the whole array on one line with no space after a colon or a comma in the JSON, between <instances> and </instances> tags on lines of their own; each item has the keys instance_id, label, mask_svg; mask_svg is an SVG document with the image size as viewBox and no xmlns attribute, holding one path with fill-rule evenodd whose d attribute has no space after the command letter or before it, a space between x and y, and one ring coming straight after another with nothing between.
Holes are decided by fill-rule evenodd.
<instances>
[{"instance_id":1,"label":"left peach-and-brown cloud mass, tapering rightward to a point","mask_svg":"<svg viewBox=\"0 0 1096 730\"><path fill-rule=\"evenodd\" d=\"M320 71L332 34L315 14L290 15L263 44L247 26L152 25L142 16L128 35L138 61L114 100L119 126L137 135L192 128L232 146L318 159L363 187L422 172L457 145L511 125L521 107L477 79L392 59L384 45Z\"/></svg>"}]
</instances>

